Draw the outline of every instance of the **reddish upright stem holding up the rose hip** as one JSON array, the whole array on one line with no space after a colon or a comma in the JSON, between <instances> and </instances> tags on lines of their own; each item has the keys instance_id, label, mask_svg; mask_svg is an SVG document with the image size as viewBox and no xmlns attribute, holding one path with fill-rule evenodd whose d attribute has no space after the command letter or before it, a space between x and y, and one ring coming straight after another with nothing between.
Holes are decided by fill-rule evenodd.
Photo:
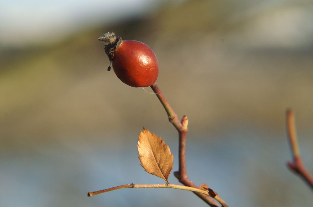
<instances>
[{"instance_id":1,"label":"reddish upright stem holding up the rose hip","mask_svg":"<svg viewBox=\"0 0 313 207\"><path fill-rule=\"evenodd\" d=\"M193 187L193 188L198 188L202 189L203 187L208 187L205 184L200 185L199 187L195 185L187 176L187 170L186 170L186 136L188 132L188 118L187 116L182 117L182 121L180 122L179 119L177 118L177 114L175 111L172 109L170 104L167 102L165 99L163 93L159 89L159 87L156 84L153 84L150 86L151 89L154 91L156 94L157 98L160 100L162 103L169 121L174 125L174 127L177 129L178 134L179 134L179 170L174 172L175 177L179 180L180 183L182 183L185 186ZM215 193L212 189L209 190L211 192L210 195L212 195L213 198L218 197L218 194ZM212 207L218 207L218 203L213 200L210 196L194 192L198 197L200 197L204 202L206 202L208 205ZM220 201L219 201L220 202ZM227 207L228 205L222 200L220 202L223 207Z\"/></svg>"}]
</instances>

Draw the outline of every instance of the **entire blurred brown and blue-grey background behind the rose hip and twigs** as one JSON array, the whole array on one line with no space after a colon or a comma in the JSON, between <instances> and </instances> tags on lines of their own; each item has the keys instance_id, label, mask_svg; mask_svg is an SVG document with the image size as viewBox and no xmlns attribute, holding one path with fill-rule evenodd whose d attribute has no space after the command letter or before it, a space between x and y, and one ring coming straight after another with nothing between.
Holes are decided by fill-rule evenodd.
<instances>
[{"instance_id":1,"label":"entire blurred brown and blue-grey background behind the rose hip and twigs","mask_svg":"<svg viewBox=\"0 0 313 207\"><path fill-rule=\"evenodd\" d=\"M177 132L156 96L107 71L97 40L107 31L156 53L157 84L189 118L195 184L230 206L312 206L312 191L285 166L292 108L313 173L312 22L311 0L2 0L0 206L207 206L174 189L86 196L164 182L139 165L143 126L178 169Z\"/></svg>"}]
</instances>

